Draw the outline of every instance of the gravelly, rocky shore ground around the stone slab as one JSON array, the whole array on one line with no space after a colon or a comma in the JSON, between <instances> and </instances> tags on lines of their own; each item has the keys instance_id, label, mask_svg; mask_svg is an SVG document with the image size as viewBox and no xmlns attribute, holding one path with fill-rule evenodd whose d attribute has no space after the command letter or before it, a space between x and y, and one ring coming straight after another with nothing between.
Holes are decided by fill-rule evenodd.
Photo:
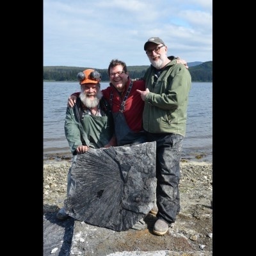
<instances>
[{"instance_id":1,"label":"gravelly, rocky shore ground around the stone slab","mask_svg":"<svg viewBox=\"0 0 256 256\"><path fill-rule=\"evenodd\" d=\"M44 256L212 255L212 163L180 162L181 210L175 225L164 236L152 233L156 221L154 214L145 217L145 229L122 232L95 227L72 218L57 220L56 212L63 207L66 198L70 164L71 159L67 156L44 159ZM65 234L60 232L60 227L65 229ZM54 247L49 241L52 241L51 237L57 229L58 236L62 237L58 243L55 237Z\"/></svg>"}]
</instances>

